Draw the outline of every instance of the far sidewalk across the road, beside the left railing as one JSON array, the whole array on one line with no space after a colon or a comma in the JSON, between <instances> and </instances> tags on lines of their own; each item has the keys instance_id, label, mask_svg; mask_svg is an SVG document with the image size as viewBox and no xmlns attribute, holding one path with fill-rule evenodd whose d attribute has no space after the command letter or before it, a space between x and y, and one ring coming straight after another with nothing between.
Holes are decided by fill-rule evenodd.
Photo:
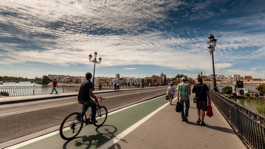
<instances>
[{"instance_id":1,"label":"far sidewalk across the road, beside the left railing","mask_svg":"<svg viewBox=\"0 0 265 149\"><path fill-rule=\"evenodd\" d=\"M161 86L161 87L167 87L167 86ZM150 87L150 88L161 88L161 87ZM149 87L142 88L142 89L148 89L148 88ZM101 93L120 92L120 91L134 91L134 90L139 90L139 89L135 89L135 88L133 88L133 89L120 89L118 91L112 90L112 89L106 89L106 90L101 90L101 91L93 91L93 93L94 94L101 94ZM0 98L0 105L10 104L10 103L19 103L19 102L28 102L28 101L54 99L54 98L72 97L72 96L77 96L77 94L78 94L78 92L1 97Z\"/></svg>"}]
</instances>

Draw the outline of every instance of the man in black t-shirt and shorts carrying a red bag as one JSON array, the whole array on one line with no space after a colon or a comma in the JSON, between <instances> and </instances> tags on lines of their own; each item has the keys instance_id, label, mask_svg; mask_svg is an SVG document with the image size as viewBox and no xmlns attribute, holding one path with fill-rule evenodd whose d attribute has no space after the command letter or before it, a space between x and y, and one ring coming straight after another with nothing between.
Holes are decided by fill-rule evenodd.
<instances>
[{"instance_id":1,"label":"man in black t-shirt and shorts carrying a red bag","mask_svg":"<svg viewBox=\"0 0 265 149\"><path fill-rule=\"evenodd\" d=\"M200 93L201 92L201 93ZM196 123L200 123L201 125L206 125L204 122L205 111L207 111L207 97L208 104L211 104L209 88L206 84L202 83L202 78L196 79L196 84L193 86L192 93L195 93L195 96L198 97L198 101L196 102L198 120Z\"/></svg>"}]
</instances>

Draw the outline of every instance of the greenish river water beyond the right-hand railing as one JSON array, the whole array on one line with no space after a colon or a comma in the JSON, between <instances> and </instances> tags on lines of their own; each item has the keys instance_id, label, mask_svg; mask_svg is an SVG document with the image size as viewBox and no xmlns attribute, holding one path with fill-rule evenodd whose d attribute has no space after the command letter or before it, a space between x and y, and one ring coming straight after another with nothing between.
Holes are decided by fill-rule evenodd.
<instances>
[{"instance_id":1,"label":"greenish river water beyond the right-hand railing","mask_svg":"<svg viewBox=\"0 0 265 149\"><path fill-rule=\"evenodd\" d=\"M256 106L261 106L265 104L265 100L260 99L236 99L231 98L231 100L236 101L237 103L240 103L241 105L244 105L252 110L255 110ZM256 110L255 110L256 111Z\"/></svg>"}]
</instances>

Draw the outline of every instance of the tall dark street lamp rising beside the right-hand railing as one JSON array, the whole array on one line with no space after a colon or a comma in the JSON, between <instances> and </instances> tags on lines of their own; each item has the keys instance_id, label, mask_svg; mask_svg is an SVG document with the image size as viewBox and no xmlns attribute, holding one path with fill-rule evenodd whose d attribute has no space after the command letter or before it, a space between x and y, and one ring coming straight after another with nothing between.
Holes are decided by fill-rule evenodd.
<instances>
[{"instance_id":1,"label":"tall dark street lamp rising beside the right-hand railing","mask_svg":"<svg viewBox=\"0 0 265 149\"><path fill-rule=\"evenodd\" d=\"M214 75L214 78L213 78L213 91L214 92L217 92L217 87L216 87L216 79L215 79L215 72L214 72L214 47L216 46L216 41L217 39L214 39L214 36L210 35L208 37L209 39L209 42L211 43L208 47L208 51L209 53L211 54L212 56L212 61L213 61L213 75Z\"/></svg>"}]
</instances>

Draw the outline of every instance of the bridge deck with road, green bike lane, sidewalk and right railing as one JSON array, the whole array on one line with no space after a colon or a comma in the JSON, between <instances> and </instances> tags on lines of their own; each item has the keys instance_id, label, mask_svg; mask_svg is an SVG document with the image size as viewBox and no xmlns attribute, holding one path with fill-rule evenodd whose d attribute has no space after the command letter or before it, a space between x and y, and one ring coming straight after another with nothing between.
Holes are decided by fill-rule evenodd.
<instances>
[{"instance_id":1,"label":"bridge deck with road, green bike lane, sidewalk and right railing","mask_svg":"<svg viewBox=\"0 0 265 149\"><path fill-rule=\"evenodd\" d=\"M183 122L180 113L175 112L176 96L173 105L165 100L166 89L95 91L95 96L106 97L102 105L108 109L107 120L101 127L83 126L80 134L70 141L61 139L58 129L68 114L80 111L77 92L1 98L0 105L1 100L10 100L12 104L5 103L0 109L2 120L11 120L8 125L0 126L6 130L0 146L27 149L265 148L265 116L210 91L214 116L205 117L205 126L197 124L192 94L189 121ZM74 97L65 97L70 94ZM48 96L57 99L43 100ZM15 133L14 128L17 129Z\"/></svg>"}]
</instances>

